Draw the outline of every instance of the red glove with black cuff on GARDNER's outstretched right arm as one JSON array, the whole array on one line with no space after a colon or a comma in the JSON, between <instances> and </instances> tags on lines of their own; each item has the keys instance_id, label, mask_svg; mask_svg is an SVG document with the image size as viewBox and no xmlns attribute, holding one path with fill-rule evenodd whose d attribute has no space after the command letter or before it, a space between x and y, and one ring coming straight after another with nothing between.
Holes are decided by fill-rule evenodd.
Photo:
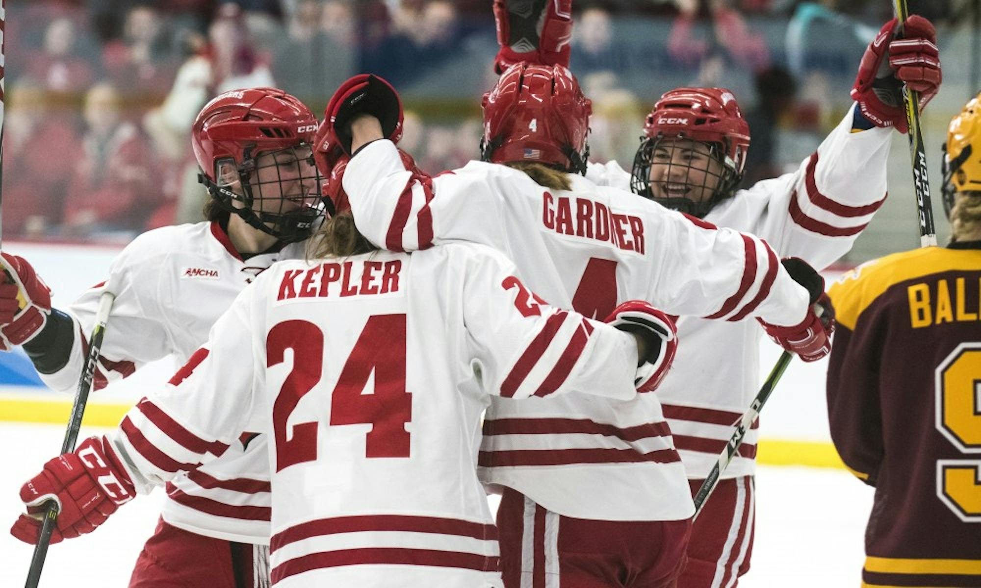
<instances>
[{"instance_id":1,"label":"red glove with black cuff on GARDNER's outstretched right arm","mask_svg":"<svg viewBox=\"0 0 981 588\"><path fill-rule=\"evenodd\" d=\"M782 260L791 277L810 293L810 307L800 324L779 326L760 320L766 334L777 344L798 354L804 362L816 362L831 353L835 309L824 293L824 278L800 258Z\"/></svg>"}]
</instances>

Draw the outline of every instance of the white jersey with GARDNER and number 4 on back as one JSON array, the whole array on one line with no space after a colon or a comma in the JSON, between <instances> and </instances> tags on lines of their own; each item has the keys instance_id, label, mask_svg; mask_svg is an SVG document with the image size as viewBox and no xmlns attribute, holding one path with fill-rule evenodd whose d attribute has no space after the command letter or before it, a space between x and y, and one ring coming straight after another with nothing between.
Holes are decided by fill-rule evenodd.
<instances>
[{"instance_id":1,"label":"white jersey with GARDNER and number 4 on back","mask_svg":"<svg viewBox=\"0 0 981 588\"><path fill-rule=\"evenodd\" d=\"M803 319L806 290L763 241L700 227L584 177L572 181L572 191L552 193L524 172L480 162L435 178L413 175L394 145L380 140L351 160L343 184L358 228L376 244L490 245L549 304L588 317L644 299L674 314L762 316L785 325ZM673 520L694 512L653 395L631 403L495 400L484 433L484 479L555 513Z\"/></svg>"}]
</instances>

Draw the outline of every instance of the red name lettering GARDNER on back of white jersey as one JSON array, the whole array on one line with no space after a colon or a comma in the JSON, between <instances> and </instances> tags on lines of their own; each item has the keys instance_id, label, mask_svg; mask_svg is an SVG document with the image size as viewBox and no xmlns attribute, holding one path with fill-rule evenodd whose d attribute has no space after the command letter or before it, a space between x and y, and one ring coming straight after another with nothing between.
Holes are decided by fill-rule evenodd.
<instances>
[{"instance_id":1,"label":"red name lettering GARDNER on back of white jersey","mask_svg":"<svg viewBox=\"0 0 981 588\"><path fill-rule=\"evenodd\" d=\"M575 219L573 210L576 211ZM644 222L640 217L619 215L593 200L552 196L545 192L542 198L542 223L545 228L561 235L612 243L624 251L644 255Z\"/></svg>"}]
</instances>

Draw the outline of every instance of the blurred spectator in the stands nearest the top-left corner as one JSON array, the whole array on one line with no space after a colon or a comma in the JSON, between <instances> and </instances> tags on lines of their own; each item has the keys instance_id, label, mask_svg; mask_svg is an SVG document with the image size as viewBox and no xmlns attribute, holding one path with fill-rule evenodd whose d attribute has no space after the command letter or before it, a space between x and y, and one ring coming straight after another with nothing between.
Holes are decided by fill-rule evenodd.
<instances>
[{"instance_id":1,"label":"blurred spectator in the stands nearest the top-left corner","mask_svg":"<svg viewBox=\"0 0 981 588\"><path fill-rule=\"evenodd\" d=\"M68 18L51 21L44 31L41 51L27 56L26 73L48 90L80 95L92 83L94 72L75 52L77 30Z\"/></svg>"}]
</instances>

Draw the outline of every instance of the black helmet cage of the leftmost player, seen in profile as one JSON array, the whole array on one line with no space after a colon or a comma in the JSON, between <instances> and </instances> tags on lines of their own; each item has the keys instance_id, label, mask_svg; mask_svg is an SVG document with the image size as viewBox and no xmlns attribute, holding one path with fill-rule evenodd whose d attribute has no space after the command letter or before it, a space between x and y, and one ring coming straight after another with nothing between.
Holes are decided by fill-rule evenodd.
<instances>
[{"instance_id":1,"label":"black helmet cage of the leftmost player, seen in profile","mask_svg":"<svg viewBox=\"0 0 981 588\"><path fill-rule=\"evenodd\" d=\"M222 185L216 181L213 181L204 174L199 174L198 179L208 188L208 192L218 202L223 210L228 211L233 215L237 215L243 221L248 223L249 226L273 235L284 243L302 241L313 233L317 221L324 217L326 212L326 207L324 206L324 201L321 197L321 176L320 172L317 171L317 166L314 163L313 150L311 149L309 155L305 156L297 152L297 149L304 147L308 149L310 148L309 145L300 143L292 147L285 147L284 149L277 149L273 151L264 151L253 155L251 152L253 146L250 145L243 150L244 157L240 163L236 164L232 158L217 160L215 162L216 177L218 176L218 170L223 164L232 163L232 165L235 166L235 170L238 172L238 181L242 189L241 194L233 191L227 185ZM259 166L256 163L256 160L260 155L272 156L272 163ZM279 161L279 156L281 155L291 157L292 162ZM304 161L307 163L309 169L313 171L312 174L303 173L301 163ZM264 185L283 185L284 167L289 163L293 163L296 167L295 177L291 177L289 181L294 181L299 184L304 180L312 180L315 186L313 190L307 194L283 194L280 192L276 196L264 196ZM266 168L273 168L276 170L276 179L259 181L259 171ZM232 201L235 200L240 202L243 206L240 208L235 207L232 204ZM267 206L267 201L279 201L279 206L277 207L277 203L275 202L272 206ZM260 208L265 210L253 209L253 206L255 206L257 202L262 203L264 206ZM286 202L295 202L299 205L299 207L293 210L284 211L284 205Z\"/></svg>"}]
</instances>

